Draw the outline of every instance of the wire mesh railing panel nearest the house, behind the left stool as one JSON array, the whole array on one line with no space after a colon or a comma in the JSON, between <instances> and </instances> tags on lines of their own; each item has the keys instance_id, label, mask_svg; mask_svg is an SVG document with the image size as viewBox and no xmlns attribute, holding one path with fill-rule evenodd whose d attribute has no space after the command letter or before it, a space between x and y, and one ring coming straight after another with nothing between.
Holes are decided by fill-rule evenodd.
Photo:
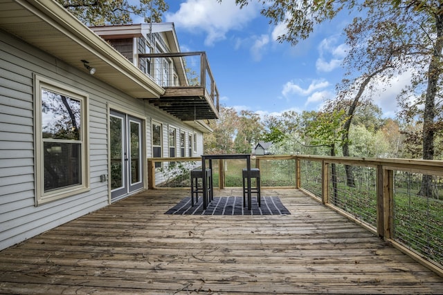
<instances>
[{"instance_id":1,"label":"wire mesh railing panel nearest the house, behind the left stool","mask_svg":"<svg viewBox=\"0 0 443 295\"><path fill-rule=\"evenodd\" d=\"M201 167L201 162L162 162L155 171L156 187L190 187L190 171Z\"/></svg>"}]
</instances>

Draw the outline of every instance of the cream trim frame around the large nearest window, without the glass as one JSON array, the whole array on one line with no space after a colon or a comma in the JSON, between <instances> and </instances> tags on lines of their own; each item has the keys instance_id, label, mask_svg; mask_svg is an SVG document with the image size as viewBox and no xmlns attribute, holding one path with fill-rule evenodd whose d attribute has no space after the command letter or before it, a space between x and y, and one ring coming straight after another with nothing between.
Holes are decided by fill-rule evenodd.
<instances>
[{"instance_id":1,"label":"cream trim frame around the large nearest window, without the glass","mask_svg":"<svg viewBox=\"0 0 443 295\"><path fill-rule=\"evenodd\" d=\"M63 93L79 99L82 104L82 183L57 189L55 191L44 192L44 156L42 139L42 88L57 93ZM79 193L90 190L90 169L89 169L89 95L76 88L66 86L51 79L34 75L34 97L35 97L35 122L34 122L34 144L35 144L35 205L46 204Z\"/></svg>"}]
</instances>

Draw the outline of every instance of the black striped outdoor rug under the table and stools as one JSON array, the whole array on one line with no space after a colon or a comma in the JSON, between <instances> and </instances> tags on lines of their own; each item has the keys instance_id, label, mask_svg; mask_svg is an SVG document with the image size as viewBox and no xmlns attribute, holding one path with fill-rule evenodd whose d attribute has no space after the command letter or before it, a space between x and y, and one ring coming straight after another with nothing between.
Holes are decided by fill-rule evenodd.
<instances>
[{"instance_id":1,"label":"black striped outdoor rug under the table and stools","mask_svg":"<svg viewBox=\"0 0 443 295\"><path fill-rule=\"evenodd\" d=\"M178 215L284 215L291 214L284 207L278 197L262 197L261 206L258 207L257 198L251 200L251 210L248 205L243 207L243 197L214 197L208 204L206 210L203 209L203 198L199 197L199 202L191 207L191 198L183 198L178 204L165 212L165 214Z\"/></svg>"}]
</instances>

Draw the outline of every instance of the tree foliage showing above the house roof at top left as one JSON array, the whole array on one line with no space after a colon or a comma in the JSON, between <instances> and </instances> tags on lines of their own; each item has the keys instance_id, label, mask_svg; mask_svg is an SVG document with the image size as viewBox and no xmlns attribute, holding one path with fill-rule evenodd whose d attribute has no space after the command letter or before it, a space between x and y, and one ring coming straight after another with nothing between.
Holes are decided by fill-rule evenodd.
<instances>
[{"instance_id":1,"label":"tree foliage showing above the house roof at top left","mask_svg":"<svg viewBox=\"0 0 443 295\"><path fill-rule=\"evenodd\" d=\"M132 16L143 17L146 23L161 22L163 12L169 6L164 0L140 0L131 4L128 0L57 0L80 21L88 26L132 23Z\"/></svg>"}]
</instances>

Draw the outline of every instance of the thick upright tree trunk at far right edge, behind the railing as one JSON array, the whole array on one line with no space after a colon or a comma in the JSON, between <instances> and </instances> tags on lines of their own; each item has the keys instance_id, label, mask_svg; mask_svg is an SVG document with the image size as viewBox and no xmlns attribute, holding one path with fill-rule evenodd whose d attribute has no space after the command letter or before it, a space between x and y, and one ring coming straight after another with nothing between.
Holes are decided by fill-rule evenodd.
<instances>
[{"instance_id":1,"label":"thick upright tree trunk at far right edge, behind the railing","mask_svg":"<svg viewBox=\"0 0 443 295\"><path fill-rule=\"evenodd\" d=\"M433 160L434 158L434 132L435 132L435 95L437 93L437 83L442 73L440 61L443 48L443 15L435 17L435 27L437 38L434 44L433 55L428 68L428 87L426 88L426 97L423 114L423 159ZM432 175L423 175L422 187L419 196L428 196L436 198L435 184L432 181Z\"/></svg>"}]
</instances>

